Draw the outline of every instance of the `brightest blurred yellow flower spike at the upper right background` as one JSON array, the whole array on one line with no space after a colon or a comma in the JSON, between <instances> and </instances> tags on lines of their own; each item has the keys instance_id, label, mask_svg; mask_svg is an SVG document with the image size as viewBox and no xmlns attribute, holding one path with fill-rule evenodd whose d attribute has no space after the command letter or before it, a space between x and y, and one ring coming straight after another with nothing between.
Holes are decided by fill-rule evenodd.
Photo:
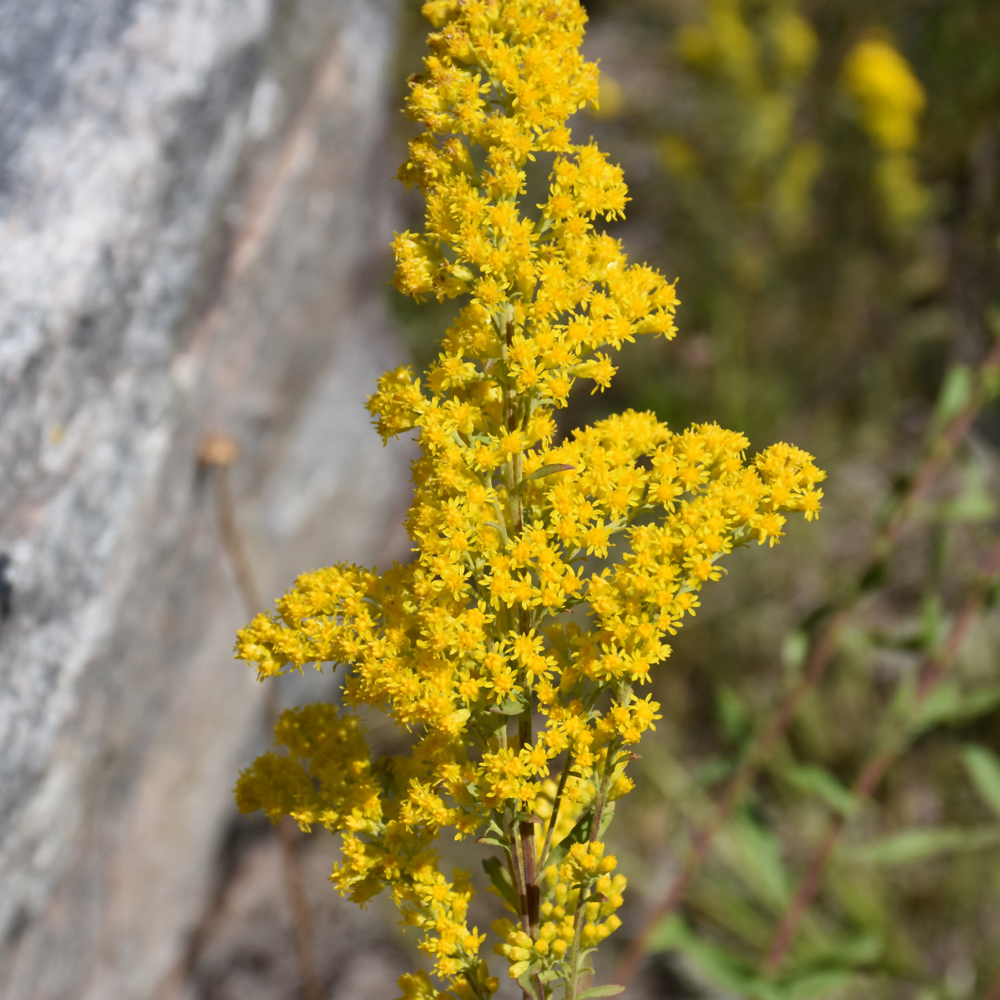
<instances>
[{"instance_id":1,"label":"brightest blurred yellow flower spike at the upper right background","mask_svg":"<svg viewBox=\"0 0 1000 1000\"><path fill-rule=\"evenodd\" d=\"M913 156L927 104L924 88L903 56L881 38L854 46L844 63L843 85L880 151L874 174L886 212L893 223L906 225L923 215L929 202Z\"/></svg>"}]
</instances>

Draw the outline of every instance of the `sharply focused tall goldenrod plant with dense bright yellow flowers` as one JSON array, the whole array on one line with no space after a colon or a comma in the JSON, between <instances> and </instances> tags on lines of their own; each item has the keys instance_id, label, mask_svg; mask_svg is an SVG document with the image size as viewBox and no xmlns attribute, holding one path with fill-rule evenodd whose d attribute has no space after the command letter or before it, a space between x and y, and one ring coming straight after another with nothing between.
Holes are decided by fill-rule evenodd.
<instances>
[{"instance_id":1,"label":"sharply focused tall goldenrod plant with dense bright yellow flowers","mask_svg":"<svg viewBox=\"0 0 1000 1000\"><path fill-rule=\"evenodd\" d=\"M279 752L237 802L341 835L331 880L364 904L388 889L433 962L404 997L484 998L499 981L469 926L473 877L445 837L474 838L509 917L494 952L524 995L610 996L590 953L618 926L625 879L605 845L659 705L641 690L702 585L739 545L812 519L810 455L716 424L675 432L632 410L560 437L577 380L606 387L610 351L672 338L674 285L629 264L598 220L628 201L619 167L568 121L596 103L578 0L434 0L408 111L423 126L400 176L426 201L394 243L396 286L462 301L424 378L385 374L369 400L384 439L415 432L414 558L385 573L301 576L239 633L261 679L343 663L342 706L291 709ZM528 197L528 164L548 186ZM354 710L411 734L373 759Z\"/></svg>"}]
</instances>

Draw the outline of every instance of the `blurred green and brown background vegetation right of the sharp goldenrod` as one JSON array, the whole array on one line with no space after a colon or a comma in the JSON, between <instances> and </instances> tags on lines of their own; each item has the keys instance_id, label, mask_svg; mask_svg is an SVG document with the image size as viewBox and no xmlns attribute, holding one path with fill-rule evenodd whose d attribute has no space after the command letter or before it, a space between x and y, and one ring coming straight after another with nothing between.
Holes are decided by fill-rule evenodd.
<instances>
[{"instance_id":1,"label":"blurred green and brown background vegetation right of the sharp goldenrod","mask_svg":"<svg viewBox=\"0 0 1000 1000\"><path fill-rule=\"evenodd\" d=\"M622 935L645 934L663 996L996 1000L1000 616L980 566L1000 497L982 366L1000 337L1000 3L587 6L602 108L575 129L624 166L614 234L679 278L683 305L677 340L629 345L569 423L718 420L830 472L822 530L790 532L766 565L741 553L656 677L664 722L612 827L633 887ZM447 307L394 305L428 355ZM829 666L650 921L836 609ZM880 753L891 766L859 796Z\"/></svg>"}]
</instances>

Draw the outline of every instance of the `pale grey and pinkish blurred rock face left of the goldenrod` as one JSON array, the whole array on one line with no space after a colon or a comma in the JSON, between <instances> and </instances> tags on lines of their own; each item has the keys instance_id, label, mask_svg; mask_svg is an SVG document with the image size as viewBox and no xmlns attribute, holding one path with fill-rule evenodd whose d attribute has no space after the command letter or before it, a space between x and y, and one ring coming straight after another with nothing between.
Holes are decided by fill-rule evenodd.
<instances>
[{"instance_id":1,"label":"pale grey and pinkish blurred rock face left of the goldenrod","mask_svg":"<svg viewBox=\"0 0 1000 1000\"><path fill-rule=\"evenodd\" d=\"M400 550L361 402L394 0L0 0L0 996L167 995L262 736L262 593ZM171 985L173 984L173 986Z\"/></svg>"}]
</instances>

